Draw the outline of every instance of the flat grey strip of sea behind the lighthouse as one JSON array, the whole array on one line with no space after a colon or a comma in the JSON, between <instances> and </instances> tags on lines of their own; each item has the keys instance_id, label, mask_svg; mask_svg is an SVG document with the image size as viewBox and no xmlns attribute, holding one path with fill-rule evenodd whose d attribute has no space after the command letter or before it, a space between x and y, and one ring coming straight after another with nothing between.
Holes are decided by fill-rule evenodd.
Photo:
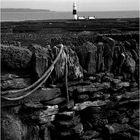
<instances>
[{"instance_id":1,"label":"flat grey strip of sea behind the lighthouse","mask_svg":"<svg viewBox=\"0 0 140 140\"><path fill-rule=\"evenodd\" d=\"M138 18L138 11L79 12L78 16L95 18ZM1 12L1 21L73 19L72 12Z\"/></svg>"}]
</instances>

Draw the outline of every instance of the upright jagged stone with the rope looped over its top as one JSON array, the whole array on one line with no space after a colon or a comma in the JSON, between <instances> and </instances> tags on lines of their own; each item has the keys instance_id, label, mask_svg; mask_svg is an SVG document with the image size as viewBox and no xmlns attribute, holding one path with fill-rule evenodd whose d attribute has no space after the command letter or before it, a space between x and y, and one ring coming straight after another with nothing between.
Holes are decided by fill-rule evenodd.
<instances>
[{"instance_id":1,"label":"upright jagged stone with the rope looped over its top","mask_svg":"<svg viewBox=\"0 0 140 140\"><path fill-rule=\"evenodd\" d=\"M52 48L52 52L54 57L56 57L59 53L59 45L54 46ZM68 65L68 79L74 80L83 77L83 69L79 64L77 54L69 46L64 46L64 51L54 68L52 76L54 82L57 80L61 80L64 77L66 68L66 59Z\"/></svg>"}]
</instances>

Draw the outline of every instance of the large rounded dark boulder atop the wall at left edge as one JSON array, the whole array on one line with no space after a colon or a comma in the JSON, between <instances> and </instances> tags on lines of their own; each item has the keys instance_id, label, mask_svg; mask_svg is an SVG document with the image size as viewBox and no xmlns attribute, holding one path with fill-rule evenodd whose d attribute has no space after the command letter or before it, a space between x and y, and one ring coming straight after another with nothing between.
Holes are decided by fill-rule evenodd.
<instances>
[{"instance_id":1,"label":"large rounded dark boulder atop the wall at left edge","mask_svg":"<svg viewBox=\"0 0 140 140\"><path fill-rule=\"evenodd\" d=\"M31 65L32 53L28 49L1 45L1 64L12 69L25 69Z\"/></svg>"}]
</instances>

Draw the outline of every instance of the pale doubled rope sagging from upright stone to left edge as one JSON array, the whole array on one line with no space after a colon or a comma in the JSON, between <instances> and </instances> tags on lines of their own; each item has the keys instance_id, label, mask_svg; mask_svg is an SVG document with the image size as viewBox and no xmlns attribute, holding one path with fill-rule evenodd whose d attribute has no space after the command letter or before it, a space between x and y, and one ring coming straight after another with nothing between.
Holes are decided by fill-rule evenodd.
<instances>
[{"instance_id":1,"label":"pale doubled rope sagging from upright stone to left edge","mask_svg":"<svg viewBox=\"0 0 140 140\"><path fill-rule=\"evenodd\" d=\"M54 69L54 65L57 63L57 61L59 60L62 52L63 52L63 48L64 46L61 44L61 48L60 48L60 52L58 54L58 56L56 57L56 59L54 60L53 64L49 67L48 70L46 70L46 72L42 75L41 78L39 78L35 83L33 83L31 86L24 88L24 89L20 89L20 90L8 90L8 91L4 91L2 92L2 98L5 100L9 100L9 101L15 101L15 100L20 100L23 99L27 96L29 96L30 94L32 94L34 91L36 91L43 83L45 83L45 81L48 79L48 77L50 76L50 74L52 73L53 69ZM19 97L6 97L4 95L7 94L11 94L11 93L16 93L16 94L23 94L23 92L25 92L24 95L21 95ZM15 96L15 94L14 94Z\"/></svg>"}]
</instances>

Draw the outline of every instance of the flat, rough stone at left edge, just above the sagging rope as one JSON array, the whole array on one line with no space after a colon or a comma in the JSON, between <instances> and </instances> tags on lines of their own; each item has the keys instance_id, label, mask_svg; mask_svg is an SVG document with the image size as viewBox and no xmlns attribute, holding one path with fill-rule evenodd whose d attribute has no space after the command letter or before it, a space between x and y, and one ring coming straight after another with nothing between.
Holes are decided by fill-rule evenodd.
<instances>
[{"instance_id":1,"label":"flat, rough stone at left edge, just above the sagging rope","mask_svg":"<svg viewBox=\"0 0 140 140\"><path fill-rule=\"evenodd\" d=\"M30 78L14 78L1 81L2 90L22 89L28 87L29 85L31 85Z\"/></svg>"}]
</instances>

